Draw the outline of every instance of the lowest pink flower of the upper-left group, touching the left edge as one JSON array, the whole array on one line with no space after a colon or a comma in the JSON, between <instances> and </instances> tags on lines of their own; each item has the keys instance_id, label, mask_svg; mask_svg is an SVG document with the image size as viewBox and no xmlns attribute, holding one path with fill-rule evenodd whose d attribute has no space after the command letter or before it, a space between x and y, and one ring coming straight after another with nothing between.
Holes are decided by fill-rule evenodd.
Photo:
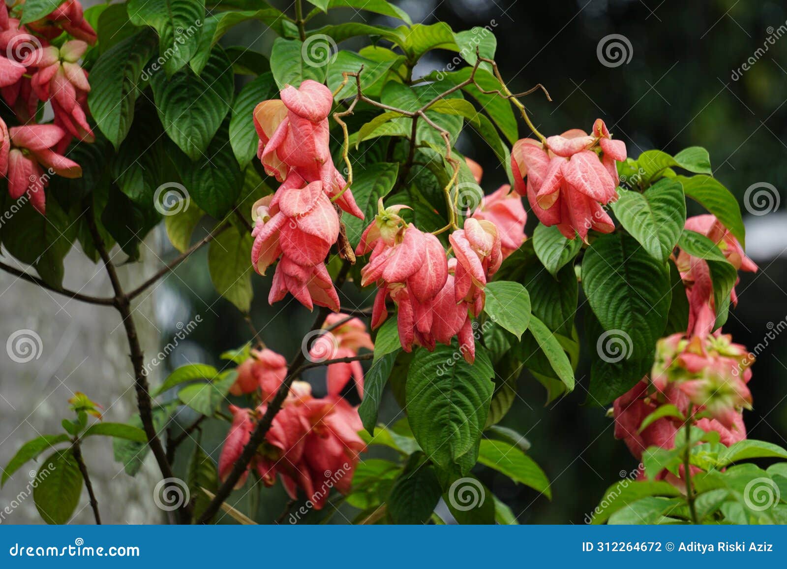
<instances>
[{"instance_id":1,"label":"lowest pink flower of the upper-left group, touching the left edge","mask_svg":"<svg viewBox=\"0 0 787 569\"><path fill-rule=\"evenodd\" d=\"M8 176L9 195L19 199L28 192L35 209L45 214L43 188L49 176L44 175L42 166L62 177L82 175L79 164L53 150L65 133L56 125L17 126L6 130L6 124L2 120L0 123L0 174Z\"/></svg>"}]
</instances>

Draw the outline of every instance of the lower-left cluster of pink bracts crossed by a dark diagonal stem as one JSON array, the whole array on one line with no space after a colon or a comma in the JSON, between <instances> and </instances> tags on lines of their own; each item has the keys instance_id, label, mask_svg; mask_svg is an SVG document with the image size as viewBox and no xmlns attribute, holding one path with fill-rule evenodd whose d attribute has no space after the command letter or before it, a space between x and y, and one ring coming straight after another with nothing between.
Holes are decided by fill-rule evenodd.
<instances>
[{"instance_id":1,"label":"lower-left cluster of pink bracts crossed by a dark diagonal stem","mask_svg":"<svg viewBox=\"0 0 787 569\"><path fill-rule=\"evenodd\" d=\"M331 314L323 328L346 318L345 314ZM360 348L374 349L366 326L357 318L339 325L331 333L336 340L331 353L327 354L331 359L356 355ZM322 348L313 348L320 351L320 359L326 355ZM227 478L241 456L257 421L264 415L268 402L282 385L286 374L286 360L268 348L252 351L251 357L238 366L238 379L230 392L233 395L258 394L261 403L256 409L230 406L232 426L219 459L222 480ZM362 428L357 408L339 395L351 375L363 396L364 374L360 362L329 365L328 395L321 399L312 396L308 383L294 381L282 409L273 418L264 443L246 473L238 480L236 488L246 483L249 471L253 469L268 486L275 483L276 474L279 474L293 499L300 487L318 510L323 507L332 488L347 493L358 456L366 448L357 434Z\"/></svg>"}]
</instances>

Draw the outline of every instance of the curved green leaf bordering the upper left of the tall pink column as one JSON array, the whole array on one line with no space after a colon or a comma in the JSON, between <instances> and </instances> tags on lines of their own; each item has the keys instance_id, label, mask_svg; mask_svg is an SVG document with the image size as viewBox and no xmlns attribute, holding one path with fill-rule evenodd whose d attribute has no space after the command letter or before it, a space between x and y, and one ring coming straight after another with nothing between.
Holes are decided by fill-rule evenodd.
<instances>
[{"instance_id":1,"label":"curved green leaf bordering the upper left of the tall pink column","mask_svg":"<svg viewBox=\"0 0 787 569\"><path fill-rule=\"evenodd\" d=\"M242 88L232 105L230 144L241 169L257 156L257 130L253 113L257 103L279 96L272 73L264 73Z\"/></svg>"}]
</instances>

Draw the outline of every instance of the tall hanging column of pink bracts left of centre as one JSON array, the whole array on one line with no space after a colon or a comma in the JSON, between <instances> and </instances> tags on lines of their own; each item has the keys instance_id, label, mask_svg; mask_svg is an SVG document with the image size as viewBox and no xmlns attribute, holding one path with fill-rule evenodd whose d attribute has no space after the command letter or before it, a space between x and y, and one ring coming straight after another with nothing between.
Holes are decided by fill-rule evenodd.
<instances>
[{"instance_id":1,"label":"tall hanging column of pink bracts left of centre","mask_svg":"<svg viewBox=\"0 0 787 569\"><path fill-rule=\"evenodd\" d=\"M348 214L360 219L364 214L345 189L328 148L333 96L312 80L297 89L288 85L280 95L254 109L257 156L265 172L282 185L253 206L252 264L264 274L281 257L268 296L271 303L290 292L309 310L317 304L338 311L338 294L324 262L339 234L331 199Z\"/></svg>"}]
</instances>

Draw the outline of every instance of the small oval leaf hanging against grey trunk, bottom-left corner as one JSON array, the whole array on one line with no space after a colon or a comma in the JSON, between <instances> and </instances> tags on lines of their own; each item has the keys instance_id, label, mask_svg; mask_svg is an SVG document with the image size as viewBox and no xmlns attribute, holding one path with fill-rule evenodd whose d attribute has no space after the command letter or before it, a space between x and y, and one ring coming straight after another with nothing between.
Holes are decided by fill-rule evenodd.
<instances>
[{"instance_id":1,"label":"small oval leaf hanging against grey trunk, bottom-left corner","mask_svg":"<svg viewBox=\"0 0 787 569\"><path fill-rule=\"evenodd\" d=\"M46 478L42 476L45 471ZM48 456L36 480L33 500L41 518L49 524L68 523L82 493L82 473L71 449Z\"/></svg>"}]
</instances>

